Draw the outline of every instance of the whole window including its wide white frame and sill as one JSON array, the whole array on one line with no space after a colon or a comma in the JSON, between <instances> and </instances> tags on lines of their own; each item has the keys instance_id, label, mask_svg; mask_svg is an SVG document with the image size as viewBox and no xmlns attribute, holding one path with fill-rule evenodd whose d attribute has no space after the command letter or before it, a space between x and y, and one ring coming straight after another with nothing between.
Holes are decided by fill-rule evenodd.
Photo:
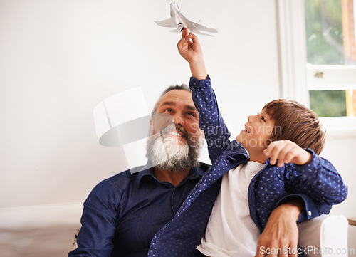
<instances>
[{"instance_id":1,"label":"whole window including its wide white frame and sill","mask_svg":"<svg viewBox=\"0 0 356 257\"><path fill-rule=\"evenodd\" d=\"M355 3L276 0L281 97L310 106L331 137L356 135Z\"/></svg>"}]
</instances>

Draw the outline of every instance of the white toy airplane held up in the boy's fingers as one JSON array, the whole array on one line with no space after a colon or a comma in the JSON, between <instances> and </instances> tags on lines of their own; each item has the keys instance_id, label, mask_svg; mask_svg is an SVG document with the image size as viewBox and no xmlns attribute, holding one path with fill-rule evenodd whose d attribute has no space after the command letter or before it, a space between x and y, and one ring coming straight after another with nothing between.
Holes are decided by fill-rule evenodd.
<instances>
[{"instance_id":1,"label":"white toy airplane held up in the boy's fingers","mask_svg":"<svg viewBox=\"0 0 356 257\"><path fill-rule=\"evenodd\" d=\"M182 32L184 28L188 29L197 34L212 36L207 33L202 33L201 31L218 33L219 30L216 28L208 28L206 26L202 26L199 23L195 23L194 21L190 21L187 19L179 10L178 4L171 3L171 18L164 21L155 21L158 26L168 27L168 28L176 28L171 32Z\"/></svg>"}]
</instances>

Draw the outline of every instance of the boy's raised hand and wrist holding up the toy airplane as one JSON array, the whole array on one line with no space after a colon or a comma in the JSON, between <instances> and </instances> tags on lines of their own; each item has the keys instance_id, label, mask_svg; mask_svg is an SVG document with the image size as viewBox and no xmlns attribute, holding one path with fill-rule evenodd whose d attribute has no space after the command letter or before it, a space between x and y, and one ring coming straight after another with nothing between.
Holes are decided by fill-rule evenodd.
<instances>
[{"instance_id":1,"label":"boy's raised hand and wrist holding up the toy airplane","mask_svg":"<svg viewBox=\"0 0 356 257\"><path fill-rule=\"evenodd\" d=\"M203 51L197 36L193 33L189 33L187 28L184 28L182 32L182 38L177 43L178 51L180 55L188 61L192 76L198 80L204 80L207 77Z\"/></svg>"}]
</instances>

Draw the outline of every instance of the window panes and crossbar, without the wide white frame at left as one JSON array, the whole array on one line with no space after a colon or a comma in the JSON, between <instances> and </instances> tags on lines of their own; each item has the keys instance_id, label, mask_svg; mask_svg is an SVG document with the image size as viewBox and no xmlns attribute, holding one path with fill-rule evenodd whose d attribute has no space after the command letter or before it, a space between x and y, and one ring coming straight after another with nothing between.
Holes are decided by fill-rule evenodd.
<instances>
[{"instance_id":1,"label":"window panes and crossbar, without the wide white frame at left","mask_svg":"<svg viewBox=\"0 0 356 257\"><path fill-rule=\"evenodd\" d=\"M356 115L354 0L305 0L307 83L319 117Z\"/></svg>"}]
</instances>

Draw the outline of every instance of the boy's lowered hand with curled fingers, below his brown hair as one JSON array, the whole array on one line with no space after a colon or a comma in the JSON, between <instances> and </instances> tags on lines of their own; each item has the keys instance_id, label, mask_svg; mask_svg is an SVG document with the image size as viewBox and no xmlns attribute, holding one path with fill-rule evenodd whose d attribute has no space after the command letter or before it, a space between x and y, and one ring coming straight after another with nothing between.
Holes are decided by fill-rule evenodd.
<instances>
[{"instance_id":1,"label":"boy's lowered hand with curled fingers, below his brown hair","mask_svg":"<svg viewBox=\"0 0 356 257\"><path fill-rule=\"evenodd\" d=\"M283 167L285 163L294 163L304 165L310 162L312 154L303 150L300 146L290 140L280 140L271 142L268 147L263 150L266 157L270 157L270 163L276 164L278 159L278 167Z\"/></svg>"}]
</instances>

